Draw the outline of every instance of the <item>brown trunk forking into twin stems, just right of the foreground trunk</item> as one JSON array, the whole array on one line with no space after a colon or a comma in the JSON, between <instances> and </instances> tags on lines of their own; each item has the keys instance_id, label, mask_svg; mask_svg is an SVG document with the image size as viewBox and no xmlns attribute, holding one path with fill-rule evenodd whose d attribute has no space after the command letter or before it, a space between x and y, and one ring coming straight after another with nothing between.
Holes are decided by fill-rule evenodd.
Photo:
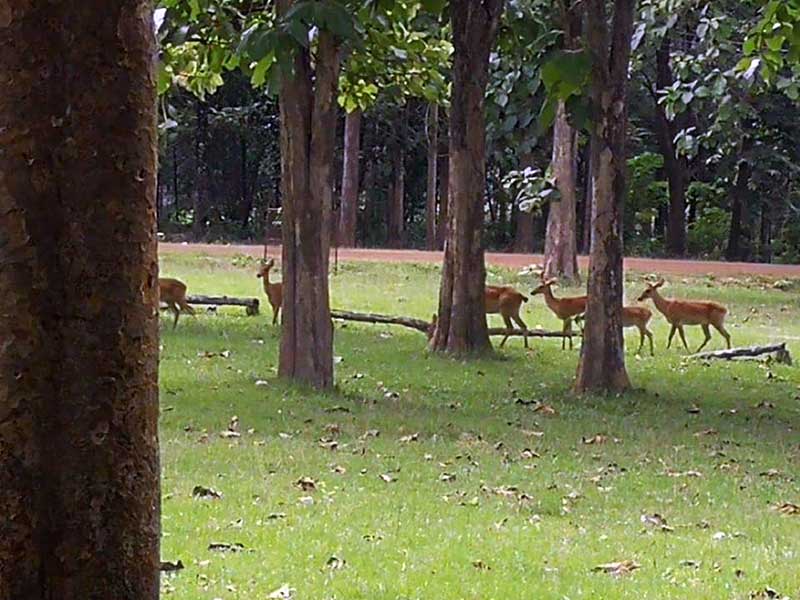
<instances>
[{"instance_id":1,"label":"brown trunk forking into twin stems, just right of the foreground trunk","mask_svg":"<svg viewBox=\"0 0 800 600\"><path fill-rule=\"evenodd\" d=\"M284 15L294 0L280 0ZM278 374L316 388L333 385L328 294L330 215L339 51L319 34L316 69L297 49L280 93L283 182L283 322Z\"/></svg>"}]
</instances>

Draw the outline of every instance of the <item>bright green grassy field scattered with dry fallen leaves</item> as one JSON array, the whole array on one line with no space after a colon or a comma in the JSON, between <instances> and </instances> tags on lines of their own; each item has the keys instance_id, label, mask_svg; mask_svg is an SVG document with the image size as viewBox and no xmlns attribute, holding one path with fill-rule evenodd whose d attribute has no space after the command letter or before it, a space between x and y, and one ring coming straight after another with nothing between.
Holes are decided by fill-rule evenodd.
<instances>
[{"instance_id":1,"label":"bright green grassy field scattered with dry fallen leaves","mask_svg":"<svg viewBox=\"0 0 800 600\"><path fill-rule=\"evenodd\" d=\"M162 273L264 299L244 259L167 255ZM346 264L332 303L429 318L438 274ZM673 279L665 293L723 301L735 345L787 340L800 358L800 282ZM541 298L523 318L559 326ZM270 319L162 320L162 557L185 565L166 597L800 598L800 514L774 509L800 504L800 367L686 362L656 316L656 357L628 354L637 391L577 398L578 351L558 340L466 363L351 323L336 325L338 391L323 395L276 381ZM234 418L240 437L225 433ZM593 571L620 561L639 568Z\"/></svg>"}]
</instances>

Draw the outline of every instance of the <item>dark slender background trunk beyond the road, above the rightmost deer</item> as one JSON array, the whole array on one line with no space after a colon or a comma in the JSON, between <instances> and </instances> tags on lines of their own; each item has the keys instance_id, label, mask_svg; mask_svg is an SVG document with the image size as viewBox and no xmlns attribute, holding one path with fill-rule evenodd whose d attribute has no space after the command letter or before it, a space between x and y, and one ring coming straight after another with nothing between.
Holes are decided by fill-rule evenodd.
<instances>
[{"instance_id":1,"label":"dark slender background trunk beyond the road, above the rightmost deer","mask_svg":"<svg viewBox=\"0 0 800 600\"><path fill-rule=\"evenodd\" d=\"M673 84L670 56L672 51L669 34L664 36L656 51L656 88L666 89ZM671 256L686 254L686 190L689 187L689 163L685 156L678 154L675 136L683 129L681 122L670 121L664 106L658 102L654 90L657 113L656 134L664 157L664 171L669 183L669 217L667 219L667 252Z\"/></svg>"}]
</instances>

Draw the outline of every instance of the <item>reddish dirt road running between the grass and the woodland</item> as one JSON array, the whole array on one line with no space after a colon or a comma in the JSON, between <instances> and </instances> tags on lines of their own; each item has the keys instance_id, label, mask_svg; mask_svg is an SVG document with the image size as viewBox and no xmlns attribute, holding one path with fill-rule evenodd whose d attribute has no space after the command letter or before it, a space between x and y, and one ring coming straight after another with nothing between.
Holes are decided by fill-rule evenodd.
<instances>
[{"instance_id":1,"label":"reddish dirt road running between the grass and the woodland","mask_svg":"<svg viewBox=\"0 0 800 600\"><path fill-rule=\"evenodd\" d=\"M246 254L263 256L263 246L242 246L222 244L159 244L163 254L205 254L210 256L233 256ZM270 256L278 256L280 249L269 248ZM424 250L377 250L368 248L340 249L339 260L368 262L441 262L441 252ZM541 264L539 254L501 254L490 252L486 261L491 265L519 269L530 264ZM581 268L586 268L588 259L579 258ZM640 273L663 273L665 275L761 275L765 277L800 277L800 265L767 265L760 263L728 263L698 260L667 260L653 258L626 258L625 268Z\"/></svg>"}]
</instances>

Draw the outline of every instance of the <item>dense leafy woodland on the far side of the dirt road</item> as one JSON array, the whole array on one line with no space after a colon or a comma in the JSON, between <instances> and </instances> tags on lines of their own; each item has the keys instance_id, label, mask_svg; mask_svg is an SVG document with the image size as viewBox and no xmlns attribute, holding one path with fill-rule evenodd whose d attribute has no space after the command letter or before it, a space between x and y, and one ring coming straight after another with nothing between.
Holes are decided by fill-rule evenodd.
<instances>
[{"instance_id":1,"label":"dense leafy woodland on the far side of the dirt road","mask_svg":"<svg viewBox=\"0 0 800 600\"><path fill-rule=\"evenodd\" d=\"M278 238L277 88L259 69L262 62L223 59L223 49L241 47L242 30L252 28L251 17L235 6L252 3L222 3L227 37L217 33L223 9L186 3L198 6L187 27L178 19L182 3L164 4L175 6L160 28L171 57L162 72L160 230L188 240ZM373 14L360 25L363 45L343 53L338 106L326 124L336 133L331 186L339 245L443 243L453 52L447 15L424 10L426 4L399 2L388 16ZM791 70L768 84L759 76L764 63L742 62L760 9L736 1L638 4L628 87L626 254L800 260L800 89ZM588 253L581 21L559 0L515 0L501 17L486 89L487 248L544 250L555 209L572 213L561 235L573 235ZM204 36L216 36L208 52L194 45ZM574 130L566 136L559 134L554 91L570 109ZM562 170L574 169L566 203L559 202L564 190L552 189L559 153ZM345 216L353 212L348 206L355 207L354 223Z\"/></svg>"}]
</instances>

